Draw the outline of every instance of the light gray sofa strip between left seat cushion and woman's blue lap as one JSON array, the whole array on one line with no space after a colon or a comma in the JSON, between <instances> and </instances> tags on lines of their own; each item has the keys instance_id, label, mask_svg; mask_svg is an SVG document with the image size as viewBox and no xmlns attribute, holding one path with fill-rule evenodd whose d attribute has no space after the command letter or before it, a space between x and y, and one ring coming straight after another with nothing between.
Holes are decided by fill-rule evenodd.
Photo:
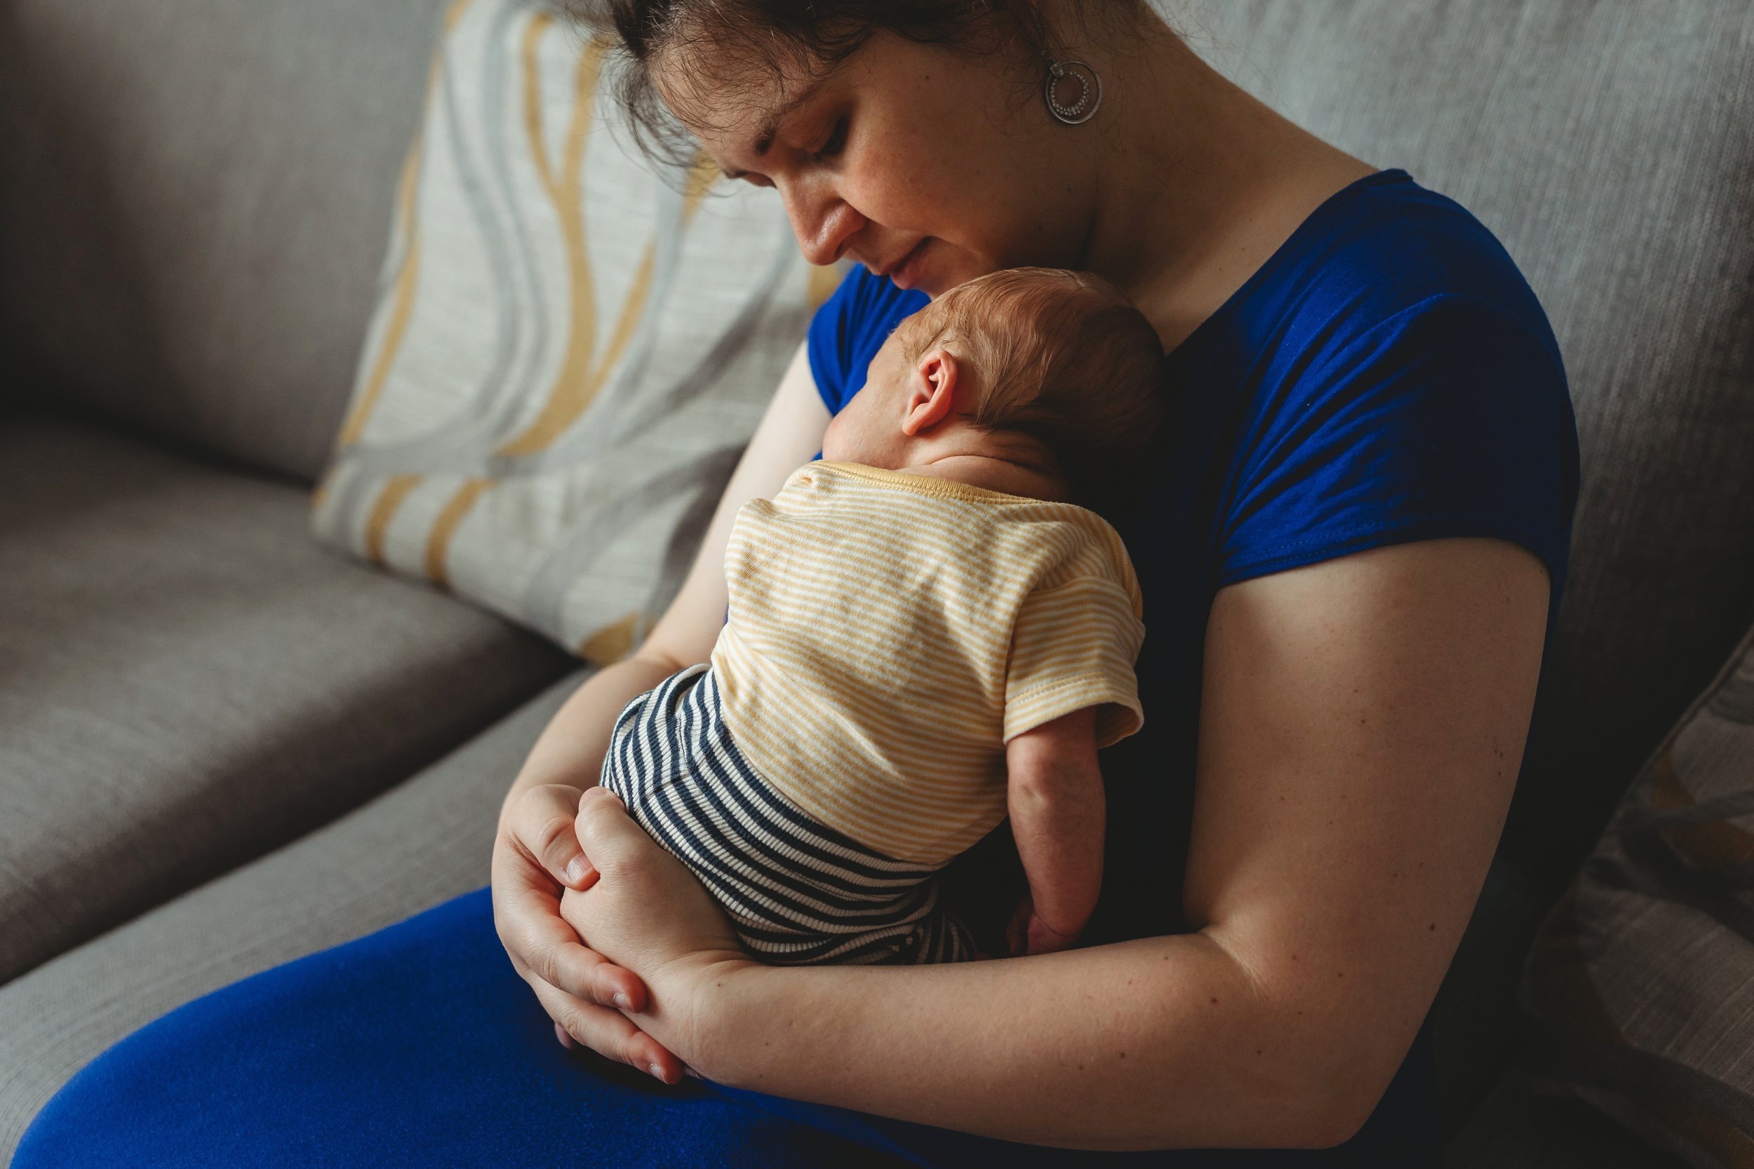
<instances>
[{"instance_id":1,"label":"light gray sofa strip between left seat cushion and woman's blue lap","mask_svg":"<svg viewBox=\"0 0 1754 1169\"><path fill-rule=\"evenodd\" d=\"M0 987L0 1164L75 1071L160 1015L488 883L509 776L574 671L340 820Z\"/></svg>"}]
</instances>

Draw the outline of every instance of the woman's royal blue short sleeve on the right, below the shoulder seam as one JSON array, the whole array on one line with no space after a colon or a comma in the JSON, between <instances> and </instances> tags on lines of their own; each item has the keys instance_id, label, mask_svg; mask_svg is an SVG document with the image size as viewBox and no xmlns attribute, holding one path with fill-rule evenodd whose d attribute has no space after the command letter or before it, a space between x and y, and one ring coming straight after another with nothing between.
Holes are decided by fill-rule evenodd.
<instances>
[{"instance_id":1,"label":"woman's royal blue short sleeve on the right, below the shoulder seam","mask_svg":"<svg viewBox=\"0 0 1754 1169\"><path fill-rule=\"evenodd\" d=\"M1575 466L1565 370L1519 317L1426 298L1263 403L1245 435L1219 585L1352 550L1491 535L1563 578ZM1575 440L1570 440L1575 442Z\"/></svg>"}]
</instances>

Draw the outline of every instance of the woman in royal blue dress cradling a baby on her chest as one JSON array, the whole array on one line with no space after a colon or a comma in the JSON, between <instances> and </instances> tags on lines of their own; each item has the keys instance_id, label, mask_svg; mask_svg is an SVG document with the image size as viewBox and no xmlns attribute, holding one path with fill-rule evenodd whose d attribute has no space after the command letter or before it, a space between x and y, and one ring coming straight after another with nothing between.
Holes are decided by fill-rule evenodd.
<instances>
[{"instance_id":1,"label":"woman in royal blue dress cradling a baby on her chest","mask_svg":"<svg viewBox=\"0 0 1754 1169\"><path fill-rule=\"evenodd\" d=\"M1435 1164L1422 1024L1517 778L1577 492L1563 365L1510 258L1144 4L612 7L637 109L777 188L812 263L863 266L670 610L517 775L491 920L470 894L172 1013L16 1164ZM1109 277L1175 372L1159 475L1112 517L1147 724L1103 752L1093 945L751 964L586 789L621 706L705 661L737 507L817 452L896 321L1014 265ZM1002 845L963 866L988 927Z\"/></svg>"}]
</instances>

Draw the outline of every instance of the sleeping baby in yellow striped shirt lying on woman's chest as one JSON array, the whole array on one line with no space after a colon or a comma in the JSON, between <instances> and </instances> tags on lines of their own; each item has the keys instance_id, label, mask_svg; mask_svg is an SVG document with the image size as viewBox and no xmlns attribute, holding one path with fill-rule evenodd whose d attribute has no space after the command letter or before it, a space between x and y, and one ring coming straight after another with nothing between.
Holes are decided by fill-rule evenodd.
<instances>
[{"instance_id":1,"label":"sleeping baby in yellow striped shirt lying on woman's chest","mask_svg":"<svg viewBox=\"0 0 1754 1169\"><path fill-rule=\"evenodd\" d=\"M1124 498L1161 414L1156 331L1109 282L1009 268L905 319L823 459L751 499L712 661L616 720L602 785L766 962L956 962L935 875L1010 815L1014 952L1102 885L1096 748L1138 731Z\"/></svg>"}]
</instances>

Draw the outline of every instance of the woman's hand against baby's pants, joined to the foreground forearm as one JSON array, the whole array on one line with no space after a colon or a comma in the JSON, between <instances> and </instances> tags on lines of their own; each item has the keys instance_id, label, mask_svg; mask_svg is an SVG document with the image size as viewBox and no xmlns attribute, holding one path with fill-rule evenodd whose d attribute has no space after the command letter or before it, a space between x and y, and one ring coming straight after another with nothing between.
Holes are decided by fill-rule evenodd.
<instances>
[{"instance_id":1,"label":"woman's hand against baby's pants, joined to the foreground forearm","mask_svg":"<svg viewBox=\"0 0 1754 1169\"><path fill-rule=\"evenodd\" d=\"M644 1038L661 1039L667 1057L675 1052L693 1062L702 1036L710 1034L709 988L751 966L749 955L700 880L628 817L614 792L584 792L574 827L600 876L584 889L568 887L560 915L589 938L600 962L614 962L610 969L630 978L637 973L635 981L649 987L644 1003L623 1008L649 1032ZM596 1046L588 1036L579 1039ZM652 1074L675 1083L656 1067Z\"/></svg>"}]
</instances>

